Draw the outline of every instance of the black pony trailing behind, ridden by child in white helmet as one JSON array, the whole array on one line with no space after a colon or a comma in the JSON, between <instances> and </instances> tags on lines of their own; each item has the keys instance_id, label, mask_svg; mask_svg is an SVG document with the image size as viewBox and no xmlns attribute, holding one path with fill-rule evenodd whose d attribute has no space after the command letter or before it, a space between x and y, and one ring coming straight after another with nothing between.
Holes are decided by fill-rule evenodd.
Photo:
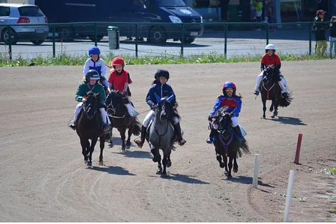
<instances>
[{"instance_id":1,"label":"black pony trailing behind, ridden by child in white helmet","mask_svg":"<svg viewBox=\"0 0 336 224\"><path fill-rule=\"evenodd\" d=\"M262 118L266 118L266 101L272 100L272 104L269 107L269 111L273 111L272 118L278 116L278 106L286 107L289 106L292 101L292 97L288 94L287 97L281 97L281 88L279 87L278 81L280 80L279 71L275 69L273 64L269 65L264 71L264 76L260 85L260 93L262 100Z\"/></svg>"}]
</instances>

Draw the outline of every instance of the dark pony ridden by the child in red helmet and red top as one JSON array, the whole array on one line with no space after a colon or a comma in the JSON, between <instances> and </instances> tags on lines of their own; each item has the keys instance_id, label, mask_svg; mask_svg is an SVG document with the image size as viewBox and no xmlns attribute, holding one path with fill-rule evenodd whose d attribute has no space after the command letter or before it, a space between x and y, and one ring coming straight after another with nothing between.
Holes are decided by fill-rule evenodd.
<instances>
[{"instance_id":1,"label":"dark pony ridden by the child in red helmet and red top","mask_svg":"<svg viewBox=\"0 0 336 224\"><path fill-rule=\"evenodd\" d=\"M111 120L110 134L112 136L113 127L118 129L122 140L121 151L123 152L131 147L132 134L138 136L141 132L141 123L139 120L130 120L131 116L127 112L127 108L124 105L128 103L132 104L130 99L125 97L119 90L112 90L106 97L107 113L109 114L109 118ZM125 133L127 129L128 137L125 144ZM112 139L109 140L109 143L113 146Z\"/></svg>"}]
</instances>

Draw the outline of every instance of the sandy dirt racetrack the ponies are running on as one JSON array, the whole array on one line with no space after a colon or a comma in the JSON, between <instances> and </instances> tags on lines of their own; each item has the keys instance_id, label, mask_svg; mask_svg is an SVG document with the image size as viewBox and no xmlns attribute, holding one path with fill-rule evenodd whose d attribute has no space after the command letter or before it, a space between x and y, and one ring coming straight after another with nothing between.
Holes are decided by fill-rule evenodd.
<instances>
[{"instance_id":1,"label":"sandy dirt racetrack the ponies are running on","mask_svg":"<svg viewBox=\"0 0 336 224\"><path fill-rule=\"evenodd\" d=\"M336 165L335 61L283 62L295 98L279 118L262 120L253 87L258 63L127 66L132 101L139 112L153 73L169 69L179 102L186 146L172 153L168 179L155 174L148 144L120 153L99 145L87 169L79 138L67 123L76 106L80 66L0 68L0 221L281 221L290 169L295 170L290 221L336 221L335 177L319 174ZM239 123L251 155L239 158L228 181L218 165L207 116L225 80L244 95ZM267 107L269 107L267 102ZM146 113L139 116L144 120ZM294 165L297 134L303 134L300 163ZM132 137L133 141L134 137ZM260 188L251 188L254 154L260 154ZM334 203L332 203L334 202Z\"/></svg>"}]
</instances>

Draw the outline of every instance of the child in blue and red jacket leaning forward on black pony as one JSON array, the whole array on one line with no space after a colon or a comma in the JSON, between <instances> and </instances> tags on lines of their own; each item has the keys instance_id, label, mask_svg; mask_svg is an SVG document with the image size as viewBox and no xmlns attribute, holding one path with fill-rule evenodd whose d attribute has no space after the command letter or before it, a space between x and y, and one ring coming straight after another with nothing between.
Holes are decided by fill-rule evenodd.
<instances>
[{"instance_id":1,"label":"child in blue and red jacket leaning forward on black pony","mask_svg":"<svg viewBox=\"0 0 336 224\"><path fill-rule=\"evenodd\" d=\"M214 119L215 113L221 109L223 106L228 106L228 113L232 112L232 127L237 133L237 139L242 144L244 143L245 139L243 135L241 134L241 130L238 124L238 117L239 113L241 111L241 95L237 95L237 87L235 83L229 81L225 82L223 85L223 95L219 96L216 100L214 109L210 112L209 120L211 120L211 133L209 138L207 139L207 144L214 143L213 135L216 134L216 131L214 129L218 128L218 120Z\"/></svg>"}]
</instances>

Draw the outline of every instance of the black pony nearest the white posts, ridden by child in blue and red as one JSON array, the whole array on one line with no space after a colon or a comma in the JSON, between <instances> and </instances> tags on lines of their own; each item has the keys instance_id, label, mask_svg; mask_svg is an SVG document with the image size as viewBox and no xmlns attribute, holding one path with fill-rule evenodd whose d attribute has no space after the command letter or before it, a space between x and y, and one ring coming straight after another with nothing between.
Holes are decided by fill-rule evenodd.
<instances>
[{"instance_id":1,"label":"black pony nearest the white posts, ridden by child in blue and red","mask_svg":"<svg viewBox=\"0 0 336 224\"><path fill-rule=\"evenodd\" d=\"M232 169L232 160L234 162L233 172L238 172L237 157L241 157L242 153L250 153L248 149L247 142L240 144L237 140L236 134L232 128L232 113L226 112L228 107L222 107L219 109L213 118L218 122L217 134L214 135L214 146L216 150L216 158L219 162L221 168L225 167L225 175L228 176L228 179L232 178L231 169ZM212 127L210 123L210 128ZM223 161L222 162L222 158ZM229 158L229 164L228 164ZM229 169L228 169L229 165Z\"/></svg>"}]
</instances>

